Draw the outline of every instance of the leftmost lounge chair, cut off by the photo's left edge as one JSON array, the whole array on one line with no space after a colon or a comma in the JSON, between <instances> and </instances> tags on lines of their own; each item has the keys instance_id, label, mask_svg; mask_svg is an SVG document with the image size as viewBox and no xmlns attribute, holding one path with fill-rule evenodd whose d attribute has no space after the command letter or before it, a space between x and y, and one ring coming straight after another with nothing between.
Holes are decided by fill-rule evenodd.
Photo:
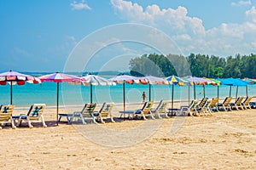
<instances>
[{"instance_id":1,"label":"leftmost lounge chair, cut off by the photo's left edge","mask_svg":"<svg viewBox=\"0 0 256 170\"><path fill-rule=\"evenodd\" d=\"M10 123L12 128L15 127L15 122L12 118L12 113L15 109L15 105L1 105L0 106L0 124L3 126L3 124ZM2 129L2 127L0 127Z\"/></svg>"}]
</instances>

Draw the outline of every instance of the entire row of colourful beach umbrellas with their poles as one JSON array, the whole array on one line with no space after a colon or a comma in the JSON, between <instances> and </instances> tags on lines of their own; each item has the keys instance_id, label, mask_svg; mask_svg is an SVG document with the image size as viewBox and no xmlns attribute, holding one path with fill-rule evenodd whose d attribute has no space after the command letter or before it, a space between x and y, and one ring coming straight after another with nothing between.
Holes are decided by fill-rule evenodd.
<instances>
[{"instance_id":1,"label":"entire row of colourful beach umbrellas with their poles","mask_svg":"<svg viewBox=\"0 0 256 170\"><path fill-rule=\"evenodd\" d=\"M195 85L203 85L203 94L205 97L205 85L229 85L230 86L230 94L231 94L231 86L236 86L236 97L239 86L247 86L248 84L255 84L256 81L252 79L245 78L243 80L236 78L227 78L227 79L208 79L202 77L132 77L129 75L120 75L117 77L113 77L111 79L106 79L103 77L99 77L96 75L87 75L85 77L76 77L73 75L63 74L63 73L53 73L49 75L45 75L42 77L32 77L26 74L21 74L16 71L7 71L0 73L0 85L5 85L7 83L10 84L10 104L12 105L12 86L16 83L18 85L23 85L25 82L29 83L41 83L41 82L56 82L56 116L58 118L59 112L59 83L60 82L69 82L71 84L84 84L85 86L90 85L90 103L92 103L92 86L96 85L115 85L116 83L123 84L123 107L125 111L125 83L142 83L148 84L148 94L149 101L151 100L151 85L153 84L172 84L172 108L173 108L173 95L174 95L174 85L193 85L194 86L194 98L195 98Z\"/></svg>"}]
</instances>

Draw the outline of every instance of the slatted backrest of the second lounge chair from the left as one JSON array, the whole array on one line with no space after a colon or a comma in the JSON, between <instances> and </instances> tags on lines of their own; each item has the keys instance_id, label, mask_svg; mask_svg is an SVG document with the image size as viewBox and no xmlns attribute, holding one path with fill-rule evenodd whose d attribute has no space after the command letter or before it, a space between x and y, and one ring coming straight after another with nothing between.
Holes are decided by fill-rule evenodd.
<instances>
[{"instance_id":1,"label":"slatted backrest of the second lounge chair from the left","mask_svg":"<svg viewBox=\"0 0 256 170\"><path fill-rule=\"evenodd\" d=\"M45 104L34 104L30 106L30 109L27 113L30 120L38 120L44 112Z\"/></svg>"}]
</instances>

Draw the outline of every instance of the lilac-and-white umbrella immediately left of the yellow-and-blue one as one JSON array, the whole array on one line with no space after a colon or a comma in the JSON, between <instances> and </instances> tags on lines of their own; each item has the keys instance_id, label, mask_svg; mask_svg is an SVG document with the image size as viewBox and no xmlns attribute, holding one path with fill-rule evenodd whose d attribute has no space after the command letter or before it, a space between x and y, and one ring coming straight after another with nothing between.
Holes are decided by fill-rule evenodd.
<instances>
[{"instance_id":1,"label":"lilac-and-white umbrella immediately left of the yellow-and-blue one","mask_svg":"<svg viewBox=\"0 0 256 170\"><path fill-rule=\"evenodd\" d=\"M169 84L168 81L164 78L160 77L153 77L153 76L147 76L147 77L139 77L140 82L143 84L148 83L148 100L151 101L151 85L153 84Z\"/></svg>"}]
</instances>

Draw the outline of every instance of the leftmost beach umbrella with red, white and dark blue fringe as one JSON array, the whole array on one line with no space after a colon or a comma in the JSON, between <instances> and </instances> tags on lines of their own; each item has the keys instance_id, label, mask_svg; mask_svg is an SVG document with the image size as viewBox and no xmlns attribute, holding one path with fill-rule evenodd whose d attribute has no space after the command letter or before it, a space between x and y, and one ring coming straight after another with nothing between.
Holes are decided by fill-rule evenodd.
<instances>
[{"instance_id":1,"label":"leftmost beach umbrella with red, white and dark blue fringe","mask_svg":"<svg viewBox=\"0 0 256 170\"><path fill-rule=\"evenodd\" d=\"M41 81L37 77L32 77L16 71L7 71L0 73L0 84L6 85L7 82L10 85L10 105L13 104L13 85L24 85L25 82L35 84L37 84L38 82L41 83Z\"/></svg>"}]
</instances>

